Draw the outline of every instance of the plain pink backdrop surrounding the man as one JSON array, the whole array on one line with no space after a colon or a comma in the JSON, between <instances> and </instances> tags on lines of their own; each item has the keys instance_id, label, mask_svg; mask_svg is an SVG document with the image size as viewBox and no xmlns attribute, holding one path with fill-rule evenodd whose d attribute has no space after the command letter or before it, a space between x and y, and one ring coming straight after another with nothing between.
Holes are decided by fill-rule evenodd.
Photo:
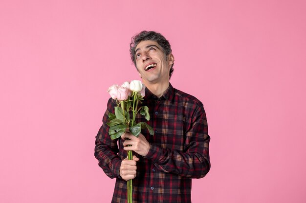
<instances>
[{"instance_id":1,"label":"plain pink backdrop surrounding the man","mask_svg":"<svg viewBox=\"0 0 306 203\"><path fill-rule=\"evenodd\" d=\"M193 203L305 203L305 0L1 0L0 202L109 203L94 139L131 36L161 32L200 99L211 171Z\"/></svg>"}]
</instances>

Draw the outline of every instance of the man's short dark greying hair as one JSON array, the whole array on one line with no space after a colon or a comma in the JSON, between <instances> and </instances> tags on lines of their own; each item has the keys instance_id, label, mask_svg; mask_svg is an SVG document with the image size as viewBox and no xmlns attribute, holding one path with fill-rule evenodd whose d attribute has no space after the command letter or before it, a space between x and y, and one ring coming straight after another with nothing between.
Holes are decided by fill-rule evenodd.
<instances>
[{"instance_id":1,"label":"man's short dark greying hair","mask_svg":"<svg viewBox=\"0 0 306 203\"><path fill-rule=\"evenodd\" d=\"M157 33L157 32L154 32L154 31L145 31L144 30L144 31L136 34L135 36L133 36L131 38L130 55L131 55L131 61L134 63L135 67L136 67L136 60L135 60L136 46L141 41L145 41L145 40L156 41L159 44L159 46L161 46L161 48L163 49L166 60L168 60L168 55L170 55L172 53L172 49L171 49L171 45L170 45L169 41L164 36L162 36L162 34L160 34L160 33ZM171 77L171 75L174 71L173 65L174 65L174 63L172 64L172 66L170 68L169 78Z\"/></svg>"}]
</instances>

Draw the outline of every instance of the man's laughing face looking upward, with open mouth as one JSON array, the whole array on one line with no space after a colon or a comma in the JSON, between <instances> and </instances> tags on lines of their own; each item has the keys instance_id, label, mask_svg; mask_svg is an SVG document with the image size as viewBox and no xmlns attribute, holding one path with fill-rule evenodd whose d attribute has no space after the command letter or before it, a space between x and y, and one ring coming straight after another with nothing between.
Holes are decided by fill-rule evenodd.
<instances>
[{"instance_id":1,"label":"man's laughing face looking upward, with open mouth","mask_svg":"<svg viewBox=\"0 0 306 203\"><path fill-rule=\"evenodd\" d=\"M146 86L169 82L172 54L166 60L163 49L152 40L141 41L135 50L136 67Z\"/></svg>"}]
</instances>

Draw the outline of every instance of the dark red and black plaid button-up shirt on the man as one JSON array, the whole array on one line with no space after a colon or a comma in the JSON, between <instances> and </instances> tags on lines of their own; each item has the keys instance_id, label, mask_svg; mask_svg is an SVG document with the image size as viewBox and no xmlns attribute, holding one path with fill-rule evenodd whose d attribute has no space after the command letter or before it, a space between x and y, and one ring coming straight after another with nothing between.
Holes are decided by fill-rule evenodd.
<instances>
[{"instance_id":1,"label":"dark red and black plaid button-up shirt on the man","mask_svg":"<svg viewBox=\"0 0 306 203\"><path fill-rule=\"evenodd\" d=\"M210 137L203 104L170 84L160 98L146 89L143 105L149 107L148 124L154 136L142 130L150 143L149 153L143 157L133 152L140 158L132 181L133 203L191 203L191 179L204 177L210 169ZM111 140L105 124L114 106L116 101L110 98L94 155L106 175L116 178L112 203L127 203L127 182L119 175L121 161L128 156L124 140ZM145 122L145 118L139 115L136 121Z\"/></svg>"}]
</instances>

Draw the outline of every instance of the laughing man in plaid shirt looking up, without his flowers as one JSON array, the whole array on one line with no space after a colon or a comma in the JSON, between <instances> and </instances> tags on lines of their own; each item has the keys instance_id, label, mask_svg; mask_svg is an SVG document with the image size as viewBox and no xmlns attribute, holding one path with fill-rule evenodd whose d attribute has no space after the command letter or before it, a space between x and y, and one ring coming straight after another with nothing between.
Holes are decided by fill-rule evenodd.
<instances>
[{"instance_id":1,"label":"laughing man in plaid shirt looking up, without his flowers","mask_svg":"<svg viewBox=\"0 0 306 203\"><path fill-rule=\"evenodd\" d=\"M210 169L203 105L170 84L174 55L161 34L143 31L132 37L130 54L146 86L143 105L149 108L154 136L143 130L138 138L126 132L111 140L105 123L116 102L109 99L95 157L104 172L116 178L112 203L126 203L130 179L133 203L191 203L191 179L204 177ZM137 122L146 122L143 117ZM133 151L133 160L127 160L127 150Z\"/></svg>"}]
</instances>

